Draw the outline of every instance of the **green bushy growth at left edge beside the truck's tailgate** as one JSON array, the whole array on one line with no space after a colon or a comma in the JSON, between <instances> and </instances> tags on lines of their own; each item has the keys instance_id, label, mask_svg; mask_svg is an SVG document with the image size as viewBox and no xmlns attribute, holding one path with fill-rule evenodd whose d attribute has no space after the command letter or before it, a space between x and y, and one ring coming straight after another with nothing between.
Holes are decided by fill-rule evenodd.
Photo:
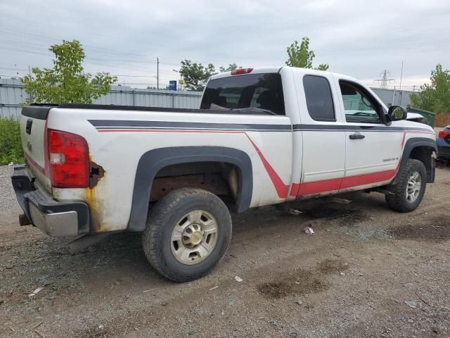
<instances>
[{"instance_id":1,"label":"green bushy growth at left edge beside the truck's tailgate","mask_svg":"<svg viewBox=\"0 0 450 338\"><path fill-rule=\"evenodd\" d=\"M20 123L14 118L0 117L0 164L24 163Z\"/></svg>"}]
</instances>

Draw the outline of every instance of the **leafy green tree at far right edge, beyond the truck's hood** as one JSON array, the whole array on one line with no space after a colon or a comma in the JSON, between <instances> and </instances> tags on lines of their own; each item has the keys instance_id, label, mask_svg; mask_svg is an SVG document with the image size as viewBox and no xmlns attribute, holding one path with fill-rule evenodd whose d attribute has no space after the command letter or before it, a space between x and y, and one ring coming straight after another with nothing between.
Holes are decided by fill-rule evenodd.
<instances>
[{"instance_id":1,"label":"leafy green tree at far right edge, beyond the truck's hood","mask_svg":"<svg viewBox=\"0 0 450 338\"><path fill-rule=\"evenodd\" d=\"M430 82L420 86L418 94L411 95L411 105L434 113L450 113L450 70L437 64L431 71Z\"/></svg>"}]
</instances>

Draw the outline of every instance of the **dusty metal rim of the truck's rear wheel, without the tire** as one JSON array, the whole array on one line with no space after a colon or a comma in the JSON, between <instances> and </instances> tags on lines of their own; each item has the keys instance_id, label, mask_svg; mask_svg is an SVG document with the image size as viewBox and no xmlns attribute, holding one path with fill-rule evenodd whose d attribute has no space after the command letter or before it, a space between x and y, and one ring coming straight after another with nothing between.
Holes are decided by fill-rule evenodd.
<instances>
[{"instance_id":1,"label":"dusty metal rim of the truck's rear wheel, without the tire","mask_svg":"<svg viewBox=\"0 0 450 338\"><path fill-rule=\"evenodd\" d=\"M183 264L200 263L214 250L218 230L217 221L207 211L193 210L186 213L172 231L172 254Z\"/></svg>"}]
</instances>

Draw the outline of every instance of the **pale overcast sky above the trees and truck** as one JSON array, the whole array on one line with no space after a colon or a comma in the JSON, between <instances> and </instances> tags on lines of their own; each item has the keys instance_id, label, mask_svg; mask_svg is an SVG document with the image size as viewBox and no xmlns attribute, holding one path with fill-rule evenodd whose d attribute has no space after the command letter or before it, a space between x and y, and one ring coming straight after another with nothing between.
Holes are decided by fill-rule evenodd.
<instances>
[{"instance_id":1,"label":"pale overcast sky above the trees and truck","mask_svg":"<svg viewBox=\"0 0 450 338\"><path fill-rule=\"evenodd\" d=\"M383 70L398 87L450 68L450 1L1 0L0 75L50 67L48 46L78 39L91 73L131 86L178 79L179 61L283 65L286 47L309 37L315 64L373 85ZM8 69L12 68L12 69Z\"/></svg>"}]
</instances>

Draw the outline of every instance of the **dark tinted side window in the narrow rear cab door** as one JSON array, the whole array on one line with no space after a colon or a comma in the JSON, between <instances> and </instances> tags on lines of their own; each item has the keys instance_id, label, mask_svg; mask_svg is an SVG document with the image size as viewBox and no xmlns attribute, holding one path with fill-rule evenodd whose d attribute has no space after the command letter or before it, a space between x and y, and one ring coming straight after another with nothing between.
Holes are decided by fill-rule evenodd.
<instances>
[{"instance_id":1,"label":"dark tinted side window in the narrow rear cab door","mask_svg":"<svg viewBox=\"0 0 450 338\"><path fill-rule=\"evenodd\" d=\"M330 83L323 76L303 77L304 95L307 99L309 115L316 121L335 121L335 107Z\"/></svg>"}]
</instances>

